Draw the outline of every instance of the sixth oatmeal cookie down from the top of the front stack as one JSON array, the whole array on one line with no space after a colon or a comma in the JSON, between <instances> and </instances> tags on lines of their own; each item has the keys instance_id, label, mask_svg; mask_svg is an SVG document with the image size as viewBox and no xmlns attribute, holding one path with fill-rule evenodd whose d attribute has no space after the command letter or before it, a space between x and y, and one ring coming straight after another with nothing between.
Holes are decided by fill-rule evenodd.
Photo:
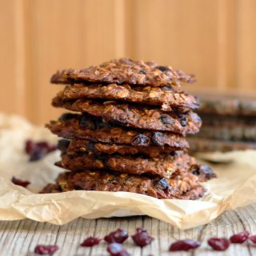
<instances>
[{"instance_id":1,"label":"sixth oatmeal cookie down from the top of the front stack","mask_svg":"<svg viewBox=\"0 0 256 256\"><path fill-rule=\"evenodd\" d=\"M170 178L177 170L188 170L194 158L182 151L160 154L155 158L120 154L87 154L67 151L62 154L60 166L67 170L114 170L128 174L150 174Z\"/></svg>"}]
</instances>

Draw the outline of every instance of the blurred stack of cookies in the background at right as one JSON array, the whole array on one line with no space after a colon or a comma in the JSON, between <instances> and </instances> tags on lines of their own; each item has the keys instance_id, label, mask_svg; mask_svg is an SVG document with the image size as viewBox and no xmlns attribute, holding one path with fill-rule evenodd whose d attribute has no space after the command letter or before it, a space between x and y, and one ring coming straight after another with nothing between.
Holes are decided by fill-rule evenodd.
<instances>
[{"instance_id":1,"label":"blurred stack of cookies in the background at right","mask_svg":"<svg viewBox=\"0 0 256 256\"><path fill-rule=\"evenodd\" d=\"M192 152L256 150L256 98L202 95L200 132L189 138Z\"/></svg>"}]
</instances>

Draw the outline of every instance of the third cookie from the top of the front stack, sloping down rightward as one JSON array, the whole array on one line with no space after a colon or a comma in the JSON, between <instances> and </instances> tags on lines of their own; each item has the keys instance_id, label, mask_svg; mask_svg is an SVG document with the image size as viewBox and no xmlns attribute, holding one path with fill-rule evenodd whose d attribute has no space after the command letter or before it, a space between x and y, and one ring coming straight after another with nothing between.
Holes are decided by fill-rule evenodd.
<instances>
[{"instance_id":1,"label":"third cookie from the top of the front stack, sloping down rightward","mask_svg":"<svg viewBox=\"0 0 256 256\"><path fill-rule=\"evenodd\" d=\"M191 110L186 110L184 113L181 113L181 110L167 113L152 107L144 108L143 106L131 106L125 103L97 102L85 99L72 102L63 101L58 97L54 98L53 106L91 114L122 126L170 131L182 135L196 134L202 123L198 114Z\"/></svg>"}]
</instances>

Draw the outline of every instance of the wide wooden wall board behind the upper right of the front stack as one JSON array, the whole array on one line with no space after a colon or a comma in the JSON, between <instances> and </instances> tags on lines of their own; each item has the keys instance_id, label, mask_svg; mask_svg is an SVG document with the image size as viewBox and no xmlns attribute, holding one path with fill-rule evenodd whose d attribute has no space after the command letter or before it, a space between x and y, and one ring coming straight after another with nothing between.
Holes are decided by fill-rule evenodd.
<instances>
[{"instance_id":1,"label":"wide wooden wall board behind the upper right of the front stack","mask_svg":"<svg viewBox=\"0 0 256 256\"><path fill-rule=\"evenodd\" d=\"M134 1L136 57L197 74L198 86L218 82L218 2Z\"/></svg>"}]
</instances>

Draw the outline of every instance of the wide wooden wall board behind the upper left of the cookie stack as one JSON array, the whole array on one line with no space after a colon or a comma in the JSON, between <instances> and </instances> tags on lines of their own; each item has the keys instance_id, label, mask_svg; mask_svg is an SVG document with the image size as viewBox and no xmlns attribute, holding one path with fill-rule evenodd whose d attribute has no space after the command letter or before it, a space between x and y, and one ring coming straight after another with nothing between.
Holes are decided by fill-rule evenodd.
<instances>
[{"instance_id":1,"label":"wide wooden wall board behind the upper left of the cookie stack","mask_svg":"<svg viewBox=\"0 0 256 256\"><path fill-rule=\"evenodd\" d=\"M115 1L30 1L30 119L56 118L50 106L62 86L50 85L58 69L82 68L118 57L115 53Z\"/></svg>"}]
</instances>

